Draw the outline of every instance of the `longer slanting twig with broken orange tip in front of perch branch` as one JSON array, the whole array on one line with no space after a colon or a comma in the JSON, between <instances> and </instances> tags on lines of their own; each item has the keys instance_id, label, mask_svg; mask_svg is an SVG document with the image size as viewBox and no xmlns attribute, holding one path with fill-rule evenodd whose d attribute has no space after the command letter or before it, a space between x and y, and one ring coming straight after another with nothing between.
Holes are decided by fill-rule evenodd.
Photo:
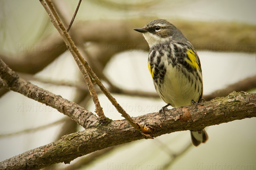
<instances>
[{"instance_id":1,"label":"longer slanting twig with broken orange tip in front of perch branch","mask_svg":"<svg viewBox=\"0 0 256 170\"><path fill-rule=\"evenodd\" d=\"M41 4L46 8L47 13L49 14L49 17L51 18L51 21L55 28L59 31L61 34L61 37L63 38L64 42L67 45L67 48L70 50L71 54L73 55L74 58L79 58L79 60L82 62L84 65L86 71L89 73L89 75L92 77L92 79L97 83L99 88L102 90L102 92L108 97L108 99L111 101L111 103L115 106L116 110L119 111L119 113L122 114L122 116L137 130L140 130L144 132L145 134L147 130L142 129L141 125L135 122L131 116L129 116L125 110L116 102L116 99L109 93L109 91L105 88L105 86L102 84L102 82L99 80L99 78L96 76L96 74L93 72L93 70L90 68L88 65L87 61L81 56L80 52L77 50L76 45L74 42L71 40L70 35L67 33L66 29L63 26L63 23L61 22L60 18L58 17L58 14L55 11L55 8L52 6L52 1L51 0L46 0L47 5L50 8L49 12L48 7L46 4L40 0ZM52 16L54 15L54 17ZM150 131L150 130L149 130Z\"/></svg>"}]
</instances>

